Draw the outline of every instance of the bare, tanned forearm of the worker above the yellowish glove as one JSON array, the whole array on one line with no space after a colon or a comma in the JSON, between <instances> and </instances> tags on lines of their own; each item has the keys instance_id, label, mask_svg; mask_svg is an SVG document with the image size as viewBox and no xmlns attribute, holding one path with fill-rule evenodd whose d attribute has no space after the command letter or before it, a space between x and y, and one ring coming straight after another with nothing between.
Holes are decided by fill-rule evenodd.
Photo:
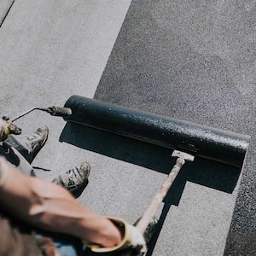
<instances>
[{"instance_id":1,"label":"bare, tanned forearm of the worker above the yellowish glove","mask_svg":"<svg viewBox=\"0 0 256 256\"><path fill-rule=\"evenodd\" d=\"M0 186L0 207L28 224L78 236L84 241L113 247L122 235L107 218L91 212L66 189L38 177L26 177L1 158L8 175Z\"/></svg>"}]
</instances>

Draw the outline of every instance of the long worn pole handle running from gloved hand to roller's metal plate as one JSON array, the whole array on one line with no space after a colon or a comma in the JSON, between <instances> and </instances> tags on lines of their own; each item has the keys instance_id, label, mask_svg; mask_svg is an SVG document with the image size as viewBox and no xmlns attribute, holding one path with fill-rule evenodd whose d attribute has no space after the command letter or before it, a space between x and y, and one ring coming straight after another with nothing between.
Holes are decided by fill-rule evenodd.
<instances>
[{"instance_id":1,"label":"long worn pole handle running from gloved hand to roller's metal plate","mask_svg":"<svg viewBox=\"0 0 256 256\"><path fill-rule=\"evenodd\" d=\"M165 182L162 184L160 190L154 196L153 201L151 201L151 204L149 205L148 209L146 210L146 212L144 212L143 217L137 223L136 227L138 230L142 232L142 234L147 229L151 219L154 218L154 215L157 212L160 203L166 197L167 192L171 188L172 183L174 182L178 172L181 170L181 167L183 166L184 163L185 160L183 160L182 158L177 158L175 166L172 167L172 171L166 177Z\"/></svg>"}]
</instances>

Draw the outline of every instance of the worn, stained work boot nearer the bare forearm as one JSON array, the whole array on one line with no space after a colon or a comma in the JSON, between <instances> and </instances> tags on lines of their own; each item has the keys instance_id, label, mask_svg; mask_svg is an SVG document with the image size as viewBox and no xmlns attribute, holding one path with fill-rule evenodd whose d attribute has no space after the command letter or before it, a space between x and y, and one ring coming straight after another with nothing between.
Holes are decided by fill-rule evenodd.
<instances>
[{"instance_id":1,"label":"worn, stained work boot nearer the bare forearm","mask_svg":"<svg viewBox=\"0 0 256 256\"><path fill-rule=\"evenodd\" d=\"M75 166L59 175L52 182L61 185L70 192L75 192L87 182L89 174L90 165L87 162L83 162L80 166Z\"/></svg>"}]
</instances>

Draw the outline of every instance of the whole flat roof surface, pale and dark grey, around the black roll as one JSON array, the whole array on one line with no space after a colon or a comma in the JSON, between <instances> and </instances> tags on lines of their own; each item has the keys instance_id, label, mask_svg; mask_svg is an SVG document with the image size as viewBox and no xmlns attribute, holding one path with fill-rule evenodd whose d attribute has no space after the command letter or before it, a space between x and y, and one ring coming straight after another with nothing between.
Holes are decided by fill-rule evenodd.
<instances>
[{"instance_id":1,"label":"whole flat roof surface, pale and dark grey, around the black roll","mask_svg":"<svg viewBox=\"0 0 256 256\"><path fill-rule=\"evenodd\" d=\"M77 94L251 135L235 213L237 170L189 164L165 202L151 254L223 255L230 230L230 255L247 248L253 255L254 17L253 1L15 1L0 29L1 113L62 106ZM161 148L67 127L46 113L17 122L21 137L44 124L49 141L33 165L55 171L38 176L50 179L88 160L92 172L78 200L131 223L173 164Z\"/></svg>"}]
</instances>

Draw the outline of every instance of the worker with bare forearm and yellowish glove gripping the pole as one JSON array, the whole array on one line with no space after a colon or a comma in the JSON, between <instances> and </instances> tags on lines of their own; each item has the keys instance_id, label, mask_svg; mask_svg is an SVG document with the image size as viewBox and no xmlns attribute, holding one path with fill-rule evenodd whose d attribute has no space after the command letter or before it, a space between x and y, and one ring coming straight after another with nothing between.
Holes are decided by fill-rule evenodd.
<instances>
[{"instance_id":1,"label":"worker with bare forearm and yellowish glove gripping the pole","mask_svg":"<svg viewBox=\"0 0 256 256\"><path fill-rule=\"evenodd\" d=\"M2 140L6 125L0 126ZM39 137L45 139L47 129L43 130ZM43 141L39 148L44 145ZM5 144L16 157L25 148L19 152L13 147L14 142ZM38 154L38 148L33 153L25 149L26 153L33 154L27 158L29 161ZM8 151L0 156L0 255L86 255L88 248L97 253L121 255L119 252L127 248L140 252L145 247L144 237L136 227L84 207L63 183L51 183L20 172L20 162L25 162L26 154L25 157L19 155L20 162L9 161L9 156ZM74 183L77 188L81 182L75 180Z\"/></svg>"}]
</instances>

